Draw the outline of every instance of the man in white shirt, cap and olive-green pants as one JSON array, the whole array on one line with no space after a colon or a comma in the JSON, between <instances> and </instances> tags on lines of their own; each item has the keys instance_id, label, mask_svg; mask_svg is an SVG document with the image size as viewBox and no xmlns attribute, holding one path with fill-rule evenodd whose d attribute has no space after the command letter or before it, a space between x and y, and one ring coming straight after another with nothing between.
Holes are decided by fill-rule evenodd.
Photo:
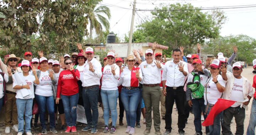
<instances>
[{"instance_id":1,"label":"man in white shirt, cap and olive-green pants","mask_svg":"<svg viewBox=\"0 0 256 135\"><path fill-rule=\"evenodd\" d=\"M143 134L148 135L150 133L152 125L151 108L153 107L153 118L155 134L161 135L160 132L160 113L159 113L159 102L160 102L160 86L161 83L161 70L164 69L164 65L160 61L153 60L153 50L146 50L146 61L143 61L139 68L143 74L143 99L146 108L146 130Z\"/></svg>"}]
</instances>

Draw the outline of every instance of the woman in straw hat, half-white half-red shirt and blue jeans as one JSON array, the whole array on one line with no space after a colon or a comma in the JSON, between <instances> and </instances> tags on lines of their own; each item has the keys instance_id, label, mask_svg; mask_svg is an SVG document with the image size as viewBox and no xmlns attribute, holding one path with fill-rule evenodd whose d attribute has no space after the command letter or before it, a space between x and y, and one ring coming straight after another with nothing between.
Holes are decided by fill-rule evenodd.
<instances>
[{"instance_id":1,"label":"woman in straw hat, half-white half-red shirt and blue jeans","mask_svg":"<svg viewBox=\"0 0 256 135\"><path fill-rule=\"evenodd\" d=\"M121 99L126 111L127 129L125 132L129 133L129 135L134 135L136 110L140 102L139 82L142 81L143 77L141 69L134 66L137 58L134 58L133 55L129 55L127 58L124 58L124 61L128 66L124 67L118 85L123 86Z\"/></svg>"}]
</instances>

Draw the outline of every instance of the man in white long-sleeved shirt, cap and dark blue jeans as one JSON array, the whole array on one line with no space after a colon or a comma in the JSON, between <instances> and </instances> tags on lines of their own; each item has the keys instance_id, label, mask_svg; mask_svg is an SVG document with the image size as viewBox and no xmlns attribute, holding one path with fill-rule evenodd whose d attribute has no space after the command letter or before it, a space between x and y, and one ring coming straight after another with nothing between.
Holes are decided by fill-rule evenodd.
<instances>
[{"instance_id":1,"label":"man in white long-sleeved shirt, cap and dark blue jeans","mask_svg":"<svg viewBox=\"0 0 256 135\"><path fill-rule=\"evenodd\" d=\"M82 54L87 58L85 61L82 77L82 97L84 101L87 126L82 131L91 130L91 134L97 133L98 122L98 91L100 79L102 76L101 64L94 58L94 52L91 47L87 47ZM92 110L92 112L91 112Z\"/></svg>"}]
</instances>

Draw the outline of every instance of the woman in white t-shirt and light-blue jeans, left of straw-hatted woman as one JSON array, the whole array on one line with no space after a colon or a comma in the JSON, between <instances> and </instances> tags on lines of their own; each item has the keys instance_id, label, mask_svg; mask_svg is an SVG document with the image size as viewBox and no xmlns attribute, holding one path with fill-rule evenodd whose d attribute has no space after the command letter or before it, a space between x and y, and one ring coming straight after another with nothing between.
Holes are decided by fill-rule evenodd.
<instances>
[{"instance_id":1,"label":"woman in white t-shirt and light-blue jeans, left of straw-hatted woman","mask_svg":"<svg viewBox=\"0 0 256 135\"><path fill-rule=\"evenodd\" d=\"M114 62L114 53L108 52L107 65L102 72L101 99L103 103L103 116L105 129L103 133L108 132L109 111L111 111L112 127L110 133L116 133L117 121L117 98L119 96L117 82L120 76L120 69Z\"/></svg>"}]
</instances>

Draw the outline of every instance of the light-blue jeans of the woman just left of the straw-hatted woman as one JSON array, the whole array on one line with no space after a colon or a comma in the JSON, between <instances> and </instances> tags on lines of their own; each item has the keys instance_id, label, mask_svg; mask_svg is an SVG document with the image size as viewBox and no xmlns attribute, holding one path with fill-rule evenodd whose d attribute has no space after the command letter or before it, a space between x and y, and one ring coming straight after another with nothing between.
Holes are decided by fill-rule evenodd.
<instances>
[{"instance_id":1,"label":"light-blue jeans of the woman just left of the straw-hatted woman","mask_svg":"<svg viewBox=\"0 0 256 135\"><path fill-rule=\"evenodd\" d=\"M118 90L111 91L111 90L101 89L101 99L104 107L103 115L104 115L105 125L108 125L109 111L111 111L112 126L116 126L118 96L119 96Z\"/></svg>"}]
</instances>

